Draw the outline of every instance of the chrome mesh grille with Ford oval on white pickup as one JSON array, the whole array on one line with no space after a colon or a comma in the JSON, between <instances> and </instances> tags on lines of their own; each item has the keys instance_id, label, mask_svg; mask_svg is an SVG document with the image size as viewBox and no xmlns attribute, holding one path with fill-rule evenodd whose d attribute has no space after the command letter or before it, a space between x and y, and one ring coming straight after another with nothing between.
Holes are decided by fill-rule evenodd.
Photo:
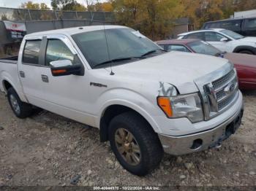
<instances>
[{"instance_id":1,"label":"chrome mesh grille with Ford oval on white pickup","mask_svg":"<svg viewBox=\"0 0 256 191\"><path fill-rule=\"evenodd\" d=\"M208 99L208 113L206 119L210 119L231 106L238 95L238 80L236 71L231 70L223 77L204 85L204 91Z\"/></svg>"}]
</instances>

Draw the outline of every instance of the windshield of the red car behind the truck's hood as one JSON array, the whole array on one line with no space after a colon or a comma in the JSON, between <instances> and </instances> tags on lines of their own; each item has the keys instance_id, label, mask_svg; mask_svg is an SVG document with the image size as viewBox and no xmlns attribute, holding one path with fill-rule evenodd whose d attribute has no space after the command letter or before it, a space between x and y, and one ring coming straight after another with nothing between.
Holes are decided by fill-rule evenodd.
<instances>
[{"instance_id":1,"label":"windshield of the red car behind the truck's hood","mask_svg":"<svg viewBox=\"0 0 256 191\"><path fill-rule=\"evenodd\" d=\"M220 50L204 41L195 41L187 44L194 52L204 55L218 55Z\"/></svg>"}]
</instances>

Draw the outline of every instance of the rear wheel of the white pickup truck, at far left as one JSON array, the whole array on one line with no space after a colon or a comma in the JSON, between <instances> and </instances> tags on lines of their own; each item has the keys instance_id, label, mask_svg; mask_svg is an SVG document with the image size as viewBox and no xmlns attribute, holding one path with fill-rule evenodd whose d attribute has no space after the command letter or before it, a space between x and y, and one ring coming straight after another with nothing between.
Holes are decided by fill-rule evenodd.
<instances>
[{"instance_id":1,"label":"rear wheel of the white pickup truck, at far left","mask_svg":"<svg viewBox=\"0 0 256 191\"><path fill-rule=\"evenodd\" d=\"M12 108L12 112L14 112L16 117L23 119L29 117L33 113L32 106L20 101L20 97L13 87L10 87L7 90L7 98Z\"/></svg>"}]
</instances>

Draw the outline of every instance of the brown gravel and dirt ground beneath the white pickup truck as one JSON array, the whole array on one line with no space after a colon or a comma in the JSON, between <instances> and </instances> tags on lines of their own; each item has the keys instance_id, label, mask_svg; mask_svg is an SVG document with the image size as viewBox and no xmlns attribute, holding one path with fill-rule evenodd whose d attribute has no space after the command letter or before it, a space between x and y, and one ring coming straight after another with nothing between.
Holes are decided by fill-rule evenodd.
<instances>
[{"instance_id":1,"label":"brown gravel and dirt ground beneath the white pickup truck","mask_svg":"<svg viewBox=\"0 0 256 191\"><path fill-rule=\"evenodd\" d=\"M256 92L244 93L243 125L220 149L165 155L152 174L129 174L98 130L50 112L19 120L0 95L0 185L256 186Z\"/></svg>"}]
</instances>

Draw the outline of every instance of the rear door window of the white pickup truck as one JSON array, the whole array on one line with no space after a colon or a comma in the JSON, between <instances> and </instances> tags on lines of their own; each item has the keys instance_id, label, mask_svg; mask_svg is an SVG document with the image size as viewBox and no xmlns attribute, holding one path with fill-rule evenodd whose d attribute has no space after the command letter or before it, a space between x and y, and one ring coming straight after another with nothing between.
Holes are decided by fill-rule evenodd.
<instances>
[{"instance_id":1,"label":"rear door window of the white pickup truck","mask_svg":"<svg viewBox=\"0 0 256 191\"><path fill-rule=\"evenodd\" d=\"M29 40L23 51L23 63L39 65L39 52L42 40Z\"/></svg>"}]
</instances>

